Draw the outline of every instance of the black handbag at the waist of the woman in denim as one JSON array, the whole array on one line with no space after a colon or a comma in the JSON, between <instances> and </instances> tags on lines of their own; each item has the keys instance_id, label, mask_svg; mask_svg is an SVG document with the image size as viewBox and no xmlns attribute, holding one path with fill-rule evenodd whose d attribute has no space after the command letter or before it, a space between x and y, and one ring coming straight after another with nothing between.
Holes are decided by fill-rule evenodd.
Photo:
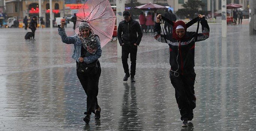
<instances>
[{"instance_id":1,"label":"black handbag at the waist of the woman in denim","mask_svg":"<svg viewBox=\"0 0 256 131\"><path fill-rule=\"evenodd\" d=\"M86 64L85 62L81 63L79 62L77 64L77 71L79 73L83 73L83 74L96 74L96 70L97 70L97 61L90 64Z\"/></svg>"}]
</instances>

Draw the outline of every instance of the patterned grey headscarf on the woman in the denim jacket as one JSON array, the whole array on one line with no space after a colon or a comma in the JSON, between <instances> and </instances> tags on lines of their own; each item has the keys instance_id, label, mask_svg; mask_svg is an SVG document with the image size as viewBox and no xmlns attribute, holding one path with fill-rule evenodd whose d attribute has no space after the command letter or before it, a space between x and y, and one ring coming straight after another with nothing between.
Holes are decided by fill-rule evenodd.
<instances>
[{"instance_id":1,"label":"patterned grey headscarf on the woman in the denim jacket","mask_svg":"<svg viewBox=\"0 0 256 131\"><path fill-rule=\"evenodd\" d=\"M81 30L87 28L90 30L90 34L87 38L84 38L81 34ZM95 54L97 51L97 42L95 40L95 34L92 31L92 28L90 28L90 25L87 22L81 22L79 24L79 33L77 33L77 36L80 38L83 48L86 49L90 54Z\"/></svg>"}]
</instances>

